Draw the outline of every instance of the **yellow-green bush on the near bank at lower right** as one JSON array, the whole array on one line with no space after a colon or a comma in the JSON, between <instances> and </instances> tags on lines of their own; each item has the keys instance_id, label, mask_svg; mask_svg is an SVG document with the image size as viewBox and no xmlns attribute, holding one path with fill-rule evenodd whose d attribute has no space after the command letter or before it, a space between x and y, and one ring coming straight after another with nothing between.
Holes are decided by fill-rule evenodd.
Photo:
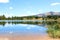
<instances>
[{"instance_id":1,"label":"yellow-green bush on the near bank at lower right","mask_svg":"<svg viewBox=\"0 0 60 40\"><path fill-rule=\"evenodd\" d=\"M48 27L47 33L50 37L60 38L60 26L59 24L55 24L51 27Z\"/></svg>"}]
</instances>

